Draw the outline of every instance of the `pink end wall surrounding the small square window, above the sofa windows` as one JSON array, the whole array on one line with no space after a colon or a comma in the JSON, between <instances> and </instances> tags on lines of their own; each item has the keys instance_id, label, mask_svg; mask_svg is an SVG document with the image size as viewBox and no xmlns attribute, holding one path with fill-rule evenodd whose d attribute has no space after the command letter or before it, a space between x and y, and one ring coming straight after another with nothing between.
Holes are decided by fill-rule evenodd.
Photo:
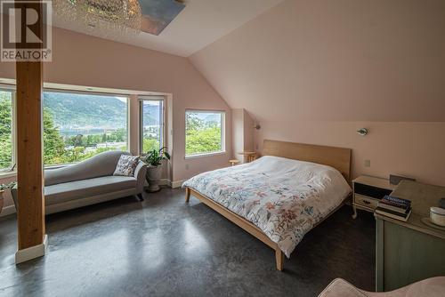
<instances>
[{"instance_id":1,"label":"pink end wall surrounding the small square window, above the sofa windows","mask_svg":"<svg viewBox=\"0 0 445 297\"><path fill-rule=\"evenodd\" d=\"M14 78L14 64L2 62L0 77ZM44 81L172 93L173 181L229 164L231 108L186 58L54 28L53 62L44 65ZM186 108L226 111L226 154L184 159Z\"/></svg>"}]
</instances>

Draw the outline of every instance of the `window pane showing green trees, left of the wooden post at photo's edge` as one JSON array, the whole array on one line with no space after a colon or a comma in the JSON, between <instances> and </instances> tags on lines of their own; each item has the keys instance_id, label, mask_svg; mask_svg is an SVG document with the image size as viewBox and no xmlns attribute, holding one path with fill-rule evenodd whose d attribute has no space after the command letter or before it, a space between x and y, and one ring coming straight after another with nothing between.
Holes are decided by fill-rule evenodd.
<instances>
[{"instance_id":1,"label":"window pane showing green trees, left of the wooden post at photo's edge","mask_svg":"<svg viewBox=\"0 0 445 297\"><path fill-rule=\"evenodd\" d=\"M12 91L0 89L0 171L14 165L12 115Z\"/></svg>"}]
</instances>

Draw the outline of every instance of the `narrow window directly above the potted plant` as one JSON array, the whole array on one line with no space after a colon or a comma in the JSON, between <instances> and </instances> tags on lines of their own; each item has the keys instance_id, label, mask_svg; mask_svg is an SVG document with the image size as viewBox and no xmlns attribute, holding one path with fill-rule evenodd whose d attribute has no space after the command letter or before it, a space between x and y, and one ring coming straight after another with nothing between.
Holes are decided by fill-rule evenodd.
<instances>
[{"instance_id":1,"label":"narrow window directly above the potted plant","mask_svg":"<svg viewBox=\"0 0 445 297\"><path fill-rule=\"evenodd\" d=\"M164 146L164 98L141 98L142 153Z\"/></svg>"}]
</instances>

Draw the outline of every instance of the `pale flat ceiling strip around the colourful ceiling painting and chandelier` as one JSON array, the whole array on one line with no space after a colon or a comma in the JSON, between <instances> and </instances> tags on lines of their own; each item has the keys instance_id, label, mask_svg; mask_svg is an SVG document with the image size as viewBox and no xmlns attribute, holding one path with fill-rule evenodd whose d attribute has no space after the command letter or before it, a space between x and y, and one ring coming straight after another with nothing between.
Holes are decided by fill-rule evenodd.
<instances>
[{"instance_id":1,"label":"pale flat ceiling strip around the colourful ceiling painting and chandelier","mask_svg":"<svg viewBox=\"0 0 445 297\"><path fill-rule=\"evenodd\" d=\"M141 33L138 36L105 38L188 57L282 1L187 0L186 7L159 36ZM85 33L82 26L57 16L53 18L53 26Z\"/></svg>"}]
</instances>

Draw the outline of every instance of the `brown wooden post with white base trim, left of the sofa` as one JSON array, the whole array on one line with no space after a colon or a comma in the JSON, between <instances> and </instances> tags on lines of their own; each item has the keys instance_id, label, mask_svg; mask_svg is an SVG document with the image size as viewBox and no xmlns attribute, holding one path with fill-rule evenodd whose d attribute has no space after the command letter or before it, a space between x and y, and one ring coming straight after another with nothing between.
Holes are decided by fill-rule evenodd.
<instances>
[{"instance_id":1,"label":"brown wooden post with white base trim, left of the sofa","mask_svg":"<svg viewBox=\"0 0 445 297\"><path fill-rule=\"evenodd\" d=\"M42 15L38 16L42 29ZM42 161L42 61L17 61L17 225L16 263L44 255Z\"/></svg>"}]
</instances>

